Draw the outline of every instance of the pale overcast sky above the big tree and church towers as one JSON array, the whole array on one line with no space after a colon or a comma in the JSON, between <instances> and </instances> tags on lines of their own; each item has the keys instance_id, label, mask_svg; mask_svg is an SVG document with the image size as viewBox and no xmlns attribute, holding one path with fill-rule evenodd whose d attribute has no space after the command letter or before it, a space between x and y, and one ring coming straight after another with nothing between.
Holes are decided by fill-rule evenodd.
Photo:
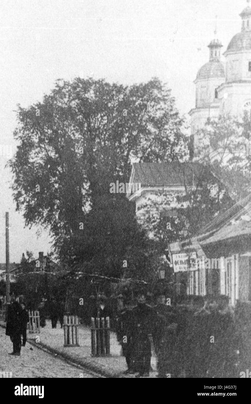
<instances>
[{"instance_id":1,"label":"pale overcast sky above the big tree and church towers","mask_svg":"<svg viewBox=\"0 0 251 404\"><path fill-rule=\"evenodd\" d=\"M1 0L0 1L0 262L5 262L5 219L10 213L11 262L22 252L50 250L48 233L24 229L4 169L17 103L41 101L55 80L76 76L133 84L157 76L167 82L181 114L194 107L193 80L209 60L207 45L224 48L240 31L245 0ZM224 57L222 57L224 60ZM7 156L3 155L7 154Z\"/></svg>"}]
</instances>

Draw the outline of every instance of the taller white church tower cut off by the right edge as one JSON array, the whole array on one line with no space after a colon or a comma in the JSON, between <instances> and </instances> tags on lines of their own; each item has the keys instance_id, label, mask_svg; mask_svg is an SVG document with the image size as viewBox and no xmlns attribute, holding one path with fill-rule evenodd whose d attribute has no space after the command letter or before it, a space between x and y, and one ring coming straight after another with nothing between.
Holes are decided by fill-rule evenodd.
<instances>
[{"instance_id":1,"label":"taller white church tower cut off by the right edge","mask_svg":"<svg viewBox=\"0 0 251 404\"><path fill-rule=\"evenodd\" d=\"M249 3L250 0L247 0ZM218 88L220 114L239 119L251 110L251 7L240 13L241 32L230 41L226 56L226 82Z\"/></svg>"}]
</instances>

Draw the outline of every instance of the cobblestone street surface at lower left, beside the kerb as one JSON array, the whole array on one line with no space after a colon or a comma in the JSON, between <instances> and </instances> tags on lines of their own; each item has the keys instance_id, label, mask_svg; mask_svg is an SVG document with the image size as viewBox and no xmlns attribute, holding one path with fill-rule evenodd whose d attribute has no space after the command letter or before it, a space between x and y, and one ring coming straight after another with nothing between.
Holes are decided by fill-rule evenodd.
<instances>
[{"instance_id":1,"label":"cobblestone street surface at lower left, beside the kerb","mask_svg":"<svg viewBox=\"0 0 251 404\"><path fill-rule=\"evenodd\" d=\"M32 350L30 349L32 348ZM59 358L55 358L49 353L26 343L21 349L21 356L11 356L12 343L9 337L6 337L5 330L0 328L0 371L12 372L12 377L27 378L93 378L98 377L92 373L86 372L81 368L76 368L67 364Z\"/></svg>"}]
</instances>

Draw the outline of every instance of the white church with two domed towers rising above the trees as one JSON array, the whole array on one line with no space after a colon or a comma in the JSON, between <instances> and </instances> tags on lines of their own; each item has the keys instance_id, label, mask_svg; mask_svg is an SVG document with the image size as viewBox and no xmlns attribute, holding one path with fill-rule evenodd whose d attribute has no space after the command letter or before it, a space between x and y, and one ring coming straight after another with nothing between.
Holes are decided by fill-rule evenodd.
<instances>
[{"instance_id":1,"label":"white church with two domed towers rising above the trees","mask_svg":"<svg viewBox=\"0 0 251 404\"><path fill-rule=\"evenodd\" d=\"M249 3L250 0L247 0ZM244 111L251 111L251 7L242 13L241 31L234 35L221 61L222 44L213 39L209 47L209 61L203 65L194 81L195 108L191 109L191 134L194 149L198 145L196 131L203 128L207 118L230 114L241 119ZM216 35L216 31L215 31Z\"/></svg>"}]
</instances>

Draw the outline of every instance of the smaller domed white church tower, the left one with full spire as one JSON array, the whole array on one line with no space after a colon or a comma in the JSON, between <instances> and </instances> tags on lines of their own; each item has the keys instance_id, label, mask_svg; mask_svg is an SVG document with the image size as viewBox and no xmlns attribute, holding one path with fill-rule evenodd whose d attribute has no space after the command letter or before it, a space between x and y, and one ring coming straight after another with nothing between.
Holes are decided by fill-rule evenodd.
<instances>
[{"instance_id":1,"label":"smaller domed white church tower, the left one with full spire","mask_svg":"<svg viewBox=\"0 0 251 404\"><path fill-rule=\"evenodd\" d=\"M216 38L211 40L209 47L209 62L205 63L196 76L195 108L191 109L191 146L190 158L193 158L193 151L196 153L198 141L196 131L203 128L207 118L216 118L219 115L220 100L217 88L225 82L224 65L221 63L221 42Z\"/></svg>"}]
</instances>

